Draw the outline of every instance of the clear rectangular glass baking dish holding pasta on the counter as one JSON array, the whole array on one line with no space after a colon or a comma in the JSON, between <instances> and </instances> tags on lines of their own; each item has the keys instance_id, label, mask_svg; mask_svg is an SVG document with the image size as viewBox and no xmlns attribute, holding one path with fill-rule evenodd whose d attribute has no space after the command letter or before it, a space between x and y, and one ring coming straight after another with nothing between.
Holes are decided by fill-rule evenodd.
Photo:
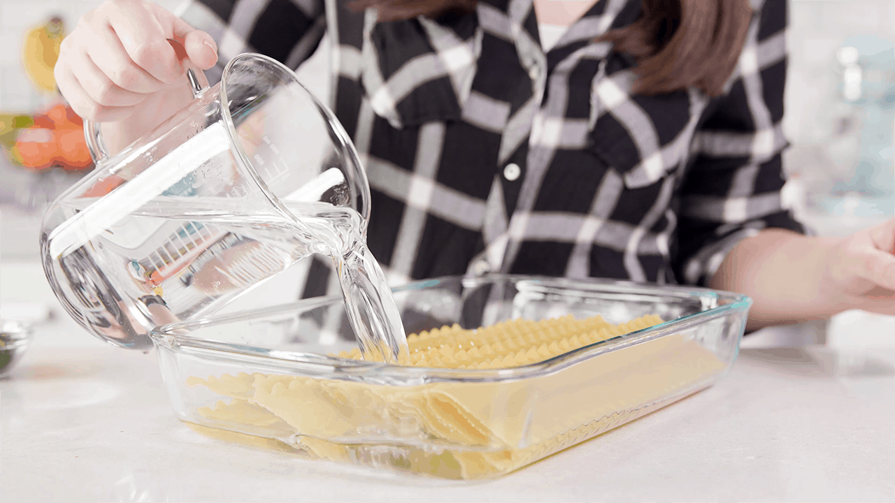
<instances>
[{"instance_id":1,"label":"clear rectangular glass baking dish holding pasta on the counter","mask_svg":"<svg viewBox=\"0 0 895 503\"><path fill-rule=\"evenodd\" d=\"M662 322L508 369L332 356L355 347L320 297L152 332L172 404L217 438L373 469L509 473L711 386L737 356L748 297L679 286L492 275L394 290L408 334L458 323L601 315Z\"/></svg>"}]
</instances>

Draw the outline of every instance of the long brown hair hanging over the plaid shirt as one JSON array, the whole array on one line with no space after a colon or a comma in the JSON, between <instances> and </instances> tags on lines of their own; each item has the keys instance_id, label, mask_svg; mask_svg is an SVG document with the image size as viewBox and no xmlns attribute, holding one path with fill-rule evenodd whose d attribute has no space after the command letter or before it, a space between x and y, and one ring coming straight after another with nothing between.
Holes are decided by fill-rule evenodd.
<instances>
[{"instance_id":1,"label":"long brown hair hanging over the plaid shirt","mask_svg":"<svg viewBox=\"0 0 895 503\"><path fill-rule=\"evenodd\" d=\"M605 2L606 0L600 0ZM478 0L351 0L376 7L379 21L471 13ZM695 86L719 96L739 60L752 17L748 0L642 0L637 21L598 40L637 61L634 91L663 94Z\"/></svg>"}]
</instances>

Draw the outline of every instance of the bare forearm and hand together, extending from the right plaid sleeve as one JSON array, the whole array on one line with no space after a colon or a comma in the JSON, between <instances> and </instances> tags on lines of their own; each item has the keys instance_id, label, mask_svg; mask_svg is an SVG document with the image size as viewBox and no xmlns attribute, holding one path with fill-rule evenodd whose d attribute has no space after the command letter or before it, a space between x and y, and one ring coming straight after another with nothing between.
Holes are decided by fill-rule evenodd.
<instances>
[{"instance_id":1,"label":"bare forearm and hand together, extending from the right plaid sleeve","mask_svg":"<svg viewBox=\"0 0 895 503\"><path fill-rule=\"evenodd\" d=\"M750 330L849 309L895 315L895 219L846 238L764 229L734 247L711 286L752 297Z\"/></svg>"}]
</instances>

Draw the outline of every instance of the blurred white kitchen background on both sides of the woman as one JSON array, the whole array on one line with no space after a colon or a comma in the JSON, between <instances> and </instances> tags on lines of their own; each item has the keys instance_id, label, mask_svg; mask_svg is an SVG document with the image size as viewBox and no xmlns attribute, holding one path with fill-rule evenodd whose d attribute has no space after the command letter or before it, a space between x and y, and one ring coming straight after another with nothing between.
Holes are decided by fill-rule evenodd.
<instances>
[{"instance_id":1,"label":"blurred white kitchen background on both sides of the woman","mask_svg":"<svg viewBox=\"0 0 895 503\"><path fill-rule=\"evenodd\" d=\"M172 11L181 4L180 0L156 1ZM38 226L47 201L92 165L80 119L55 92L52 66L64 35L83 13L101 3L0 0L0 310L4 317L62 314L38 264ZM818 234L846 235L892 217L895 0L790 0L788 46L784 130L791 147L785 154L790 176L785 200ZM321 48L325 47L324 41ZM299 73L326 98L327 62L322 53L318 51ZM271 297L282 300L283 288L289 285L286 276L265 288ZM799 337L797 343L830 344L830 327L848 325L848 316L855 314L798 328L792 332L798 335L792 337Z\"/></svg>"}]
</instances>

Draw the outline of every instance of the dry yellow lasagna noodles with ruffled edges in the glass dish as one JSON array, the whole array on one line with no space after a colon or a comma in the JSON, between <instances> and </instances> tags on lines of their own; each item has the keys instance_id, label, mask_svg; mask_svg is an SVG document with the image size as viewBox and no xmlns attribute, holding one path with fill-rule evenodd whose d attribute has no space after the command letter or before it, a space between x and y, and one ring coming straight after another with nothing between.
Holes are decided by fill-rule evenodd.
<instances>
[{"instance_id":1,"label":"dry yellow lasagna noodles with ruffled edges in the glass dish","mask_svg":"<svg viewBox=\"0 0 895 503\"><path fill-rule=\"evenodd\" d=\"M644 316L611 325L575 320L512 320L487 328L444 327L407 337L405 364L503 369L542 362L584 345L647 328ZM358 350L339 354L360 359ZM683 336L660 337L537 378L500 382L433 382L379 386L301 376L225 374L190 378L220 396L198 412L219 424L265 436L297 436L312 456L351 461L382 458L362 437L407 439L385 463L449 478L507 473L702 388L723 362ZM203 429L205 430L205 429ZM209 431L205 432L210 432ZM369 435L367 435L369 433ZM443 450L413 444L443 446ZM269 440L263 440L269 443ZM381 460L380 460L381 462Z\"/></svg>"}]
</instances>

